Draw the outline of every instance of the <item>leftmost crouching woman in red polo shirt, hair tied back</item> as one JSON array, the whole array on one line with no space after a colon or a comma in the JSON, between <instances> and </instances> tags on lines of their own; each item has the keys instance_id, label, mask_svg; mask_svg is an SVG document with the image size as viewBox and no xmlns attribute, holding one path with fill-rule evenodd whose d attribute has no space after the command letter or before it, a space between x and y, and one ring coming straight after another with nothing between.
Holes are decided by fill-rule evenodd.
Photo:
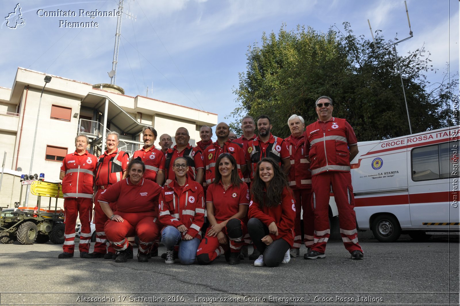
<instances>
[{"instance_id":1,"label":"leftmost crouching woman in red polo shirt, hair tied back","mask_svg":"<svg viewBox=\"0 0 460 306\"><path fill-rule=\"evenodd\" d=\"M140 159L129 162L127 178L116 182L99 196L99 203L109 217L104 225L105 235L120 254L116 262L126 262L129 253L126 237L139 237L138 261L147 262L153 241L158 239L160 229L158 196L161 187L143 178L145 165ZM113 212L109 203L115 202Z\"/></svg>"}]
</instances>

